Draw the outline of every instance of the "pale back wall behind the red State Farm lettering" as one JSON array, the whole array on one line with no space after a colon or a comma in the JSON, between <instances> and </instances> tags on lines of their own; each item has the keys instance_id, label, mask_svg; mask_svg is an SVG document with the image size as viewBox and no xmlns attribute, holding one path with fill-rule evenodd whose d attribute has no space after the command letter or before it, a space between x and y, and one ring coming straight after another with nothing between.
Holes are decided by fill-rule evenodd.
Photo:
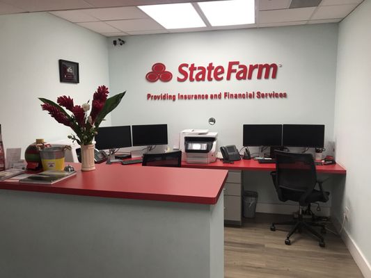
<instances>
[{"instance_id":1,"label":"pale back wall behind the red State Farm lettering","mask_svg":"<svg viewBox=\"0 0 371 278\"><path fill-rule=\"evenodd\" d=\"M109 39L109 77L113 90L127 90L124 104L112 113L112 124L168 124L169 146L182 129L219 132L220 145L242 147L243 124L325 124L326 147L333 138L337 24L287 26L202 33L141 35ZM250 81L176 81L181 63L227 66L277 63L276 79ZM173 72L168 83L150 83L145 74L161 62ZM283 91L287 99L148 101L152 93L212 93ZM208 124L209 117L216 124ZM256 148L255 148L256 149ZM255 152L255 150L253 150ZM259 193L259 202L282 204L267 173L244 173L246 188ZM248 177L246 177L248 176ZM248 183L248 184L247 184ZM263 185L262 185L263 184ZM331 182L326 185L330 189ZM324 206L330 206L331 202ZM290 208L292 211L292 208Z\"/></svg>"}]
</instances>

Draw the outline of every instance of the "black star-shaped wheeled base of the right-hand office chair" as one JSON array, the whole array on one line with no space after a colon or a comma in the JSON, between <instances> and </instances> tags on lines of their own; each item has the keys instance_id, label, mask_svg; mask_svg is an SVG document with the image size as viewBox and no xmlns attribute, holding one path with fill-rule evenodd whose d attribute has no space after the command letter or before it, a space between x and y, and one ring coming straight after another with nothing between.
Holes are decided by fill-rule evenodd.
<instances>
[{"instance_id":1,"label":"black star-shaped wheeled base of the right-hand office chair","mask_svg":"<svg viewBox=\"0 0 371 278\"><path fill-rule=\"evenodd\" d=\"M271 231L276 231L276 225L292 225L292 228L288 232L287 237L285 239L286 245L291 245L290 236L292 236L292 234L294 234L295 231L299 231L299 233L301 233L301 231L304 228L310 231L310 234L313 234L313 236L315 236L318 239L320 247L325 247L324 237L321 234L319 234L315 229L313 229L313 227L321 227L321 233L326 234L326 226L322 223L305 222L303 221L302 215L299 215L299 219L296 221L272 223Z\"/></svg>"}]
</instances>

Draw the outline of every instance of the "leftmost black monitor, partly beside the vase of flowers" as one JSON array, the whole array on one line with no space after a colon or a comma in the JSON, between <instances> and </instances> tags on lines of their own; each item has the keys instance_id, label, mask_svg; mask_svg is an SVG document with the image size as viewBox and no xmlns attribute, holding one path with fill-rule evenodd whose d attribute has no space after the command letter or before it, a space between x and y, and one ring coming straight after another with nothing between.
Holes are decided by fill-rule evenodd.
<instances>
[{"instance_id":1,"label":"leftmost black monitor, partly beside the vase of flowers","mask_svg":"<svg viewBox=\"0 0 371 278\"><path fill-rule=\"evenodd\" d=\"M97 132L95 136L95 147L97 149L132 147L130 126L100 127Z\"/></svg>"}]
</instances>

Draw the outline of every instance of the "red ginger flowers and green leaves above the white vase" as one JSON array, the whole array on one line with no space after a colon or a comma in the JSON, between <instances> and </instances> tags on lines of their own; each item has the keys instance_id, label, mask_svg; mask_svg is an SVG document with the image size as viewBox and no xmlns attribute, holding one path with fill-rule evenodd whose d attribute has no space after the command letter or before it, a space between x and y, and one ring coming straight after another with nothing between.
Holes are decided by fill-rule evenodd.
<instances>
[{"instance_id":1,"label":"red ginger flowers and green leaves above the white vase","mask_svg":"<svg viewBox=\"0 0 371 278\"><path fill-rule=\"evenodd\" d=\"M93 95L92 108L89 115L89 101L79 106L74 105L73 99L65 95L58 97L56 100L57 104L49 99L41 97L39 99L44 103L41 104L42 110L48 111L49 115L54 117L57 122L70 126L76 133L76 135L72 134L68 138L73 141L76 140L79 145L90 145L97 134L100 123L107 114L120 104L125 92L107 98L108 94L109 90L106 86L102 85L97 88ZM63 107L70 111L72 115L68 114Z\"/></svg>"}]
</instances>

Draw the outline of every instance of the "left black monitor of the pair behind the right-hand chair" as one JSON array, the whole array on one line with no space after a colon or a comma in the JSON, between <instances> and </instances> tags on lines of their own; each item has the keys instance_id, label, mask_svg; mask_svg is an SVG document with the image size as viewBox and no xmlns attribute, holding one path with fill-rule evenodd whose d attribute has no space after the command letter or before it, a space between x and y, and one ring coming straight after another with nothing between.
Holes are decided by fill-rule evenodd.
<instances>
[{"instance_id":1,"label":"left black monitor of the pair behind the right-hand chair","mask_svg":"<svg viewBox=\"0 0 371 278\"><path fill-rule=\"evenodd\" d=\"M244 147L281 146L282 124L244 124Z\"/></svg>"}]
</instances>

